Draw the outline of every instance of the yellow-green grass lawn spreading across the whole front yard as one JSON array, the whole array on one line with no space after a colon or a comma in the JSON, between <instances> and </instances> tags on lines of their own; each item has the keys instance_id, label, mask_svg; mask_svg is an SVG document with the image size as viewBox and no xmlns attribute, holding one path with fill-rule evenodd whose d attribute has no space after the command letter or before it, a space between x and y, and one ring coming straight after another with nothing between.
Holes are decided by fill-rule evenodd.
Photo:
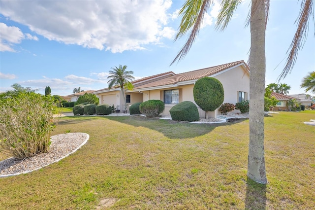
<instances>
[{"instance_id":1,"label":"yellow-green grass lawn spreading across the whole front yard","mask_svg":"<svg viewBox=\"0 0 315 210\"><path fill-rule=\"evenodd\" d=\"M87 144L44 169L0 178L0 209L314 209L315 111L265 117L268 184L247 180L249 120L200 125L141 116L64 117ZM0 156L4 159L4 156Z\"/></svg>"}]
</instances>

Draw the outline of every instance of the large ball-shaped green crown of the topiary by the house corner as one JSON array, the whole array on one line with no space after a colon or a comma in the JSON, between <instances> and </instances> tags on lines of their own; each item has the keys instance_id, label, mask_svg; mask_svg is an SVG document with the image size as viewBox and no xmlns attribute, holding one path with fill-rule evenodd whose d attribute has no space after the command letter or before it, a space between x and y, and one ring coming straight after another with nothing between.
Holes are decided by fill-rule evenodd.
<instances>
[{"instance_id":1,"label":"large ball-shaped green crown of the topiary by the house corner","mask_svg":"<svg viewBox=\"0 0 315 210\"><path fill-rule=\"evenodd\" d=\"M224 100L221 82L213 77L198 79L193 87L193 99L204 111L214 111Z\"/></svg>"}]
</instances>

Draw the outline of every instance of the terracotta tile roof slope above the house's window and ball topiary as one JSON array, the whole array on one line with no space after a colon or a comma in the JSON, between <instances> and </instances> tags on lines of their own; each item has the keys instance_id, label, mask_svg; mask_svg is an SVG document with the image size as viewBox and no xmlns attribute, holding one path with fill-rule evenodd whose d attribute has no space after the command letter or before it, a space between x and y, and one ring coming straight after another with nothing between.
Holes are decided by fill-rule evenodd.
<instances>
[{"instance_id":1,"label":"terracotta tile roof slope above the house's window and ball topiary","mask_svg":"<svg viewBox=\"0 0 315 210\"><path fill-rule=\"evenodd\" d=\"M193 70L193 71L188 71L184 73L178 73L173 76L151 82L148 84L140 85L138 87L135 87L134 89L141 89L141 88L150 88L150 87L158 87L158 86L163 86L163 85L170 85L170 84L176 84L178 82L182 81L189 81L189 80L194 80L194 79L199 79L202 77L210 76L215 73L218 73L222 70L229 69L231 67L237 66L239 64L244 64L246 68L249 70L249 67L246 65L244 61L236 61L228 64L223 64L219 66L214 66L214 67L209 67L205 69L200 69L200 70Z\"/></svg>"}]
</instances>

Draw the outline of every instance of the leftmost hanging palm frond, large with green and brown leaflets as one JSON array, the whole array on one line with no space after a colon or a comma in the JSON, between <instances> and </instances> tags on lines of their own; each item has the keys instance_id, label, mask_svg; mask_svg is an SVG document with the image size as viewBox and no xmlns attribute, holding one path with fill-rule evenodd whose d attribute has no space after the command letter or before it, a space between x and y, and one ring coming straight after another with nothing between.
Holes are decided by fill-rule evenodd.
<instances>
[{"instance_id":1,"label":"leftmost hanging palm frond, large with green and brown leaflets","mask_svg":"<svg viewBox=\"0 0 315 210\"><path fill-rule=\"evenodd\" d=\"M191 30L189 38L187 39L185 45L179 51L171 65L176 60L183 59L189 49L191 48L192 43L194 42L196 36L198 35L202 20L207 10L211 5L212 0L187 0L183 5L183 8L180 11L180 15L183 16L179 31L175 37L175 40L185 35L189 30Z\"/></svg>"}]
</instances>

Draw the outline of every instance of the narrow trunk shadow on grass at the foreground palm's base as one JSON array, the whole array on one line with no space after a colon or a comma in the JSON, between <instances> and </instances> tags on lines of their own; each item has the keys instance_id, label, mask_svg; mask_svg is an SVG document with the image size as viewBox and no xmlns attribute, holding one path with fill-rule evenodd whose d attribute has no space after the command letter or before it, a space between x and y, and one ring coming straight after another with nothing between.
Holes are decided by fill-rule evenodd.
<instances>
[{"instance_id":1,"label":"narrow trunk shadow on grass at the foreground palm's base","mask_svg":"<svg viewBox=\"0 0 315 210\"><path fill-rule=\"evenodd\" d=\"M259 184L250 178L246 181L246 210L266 209L266 184Z\"/></svg>"}]
</instances>

